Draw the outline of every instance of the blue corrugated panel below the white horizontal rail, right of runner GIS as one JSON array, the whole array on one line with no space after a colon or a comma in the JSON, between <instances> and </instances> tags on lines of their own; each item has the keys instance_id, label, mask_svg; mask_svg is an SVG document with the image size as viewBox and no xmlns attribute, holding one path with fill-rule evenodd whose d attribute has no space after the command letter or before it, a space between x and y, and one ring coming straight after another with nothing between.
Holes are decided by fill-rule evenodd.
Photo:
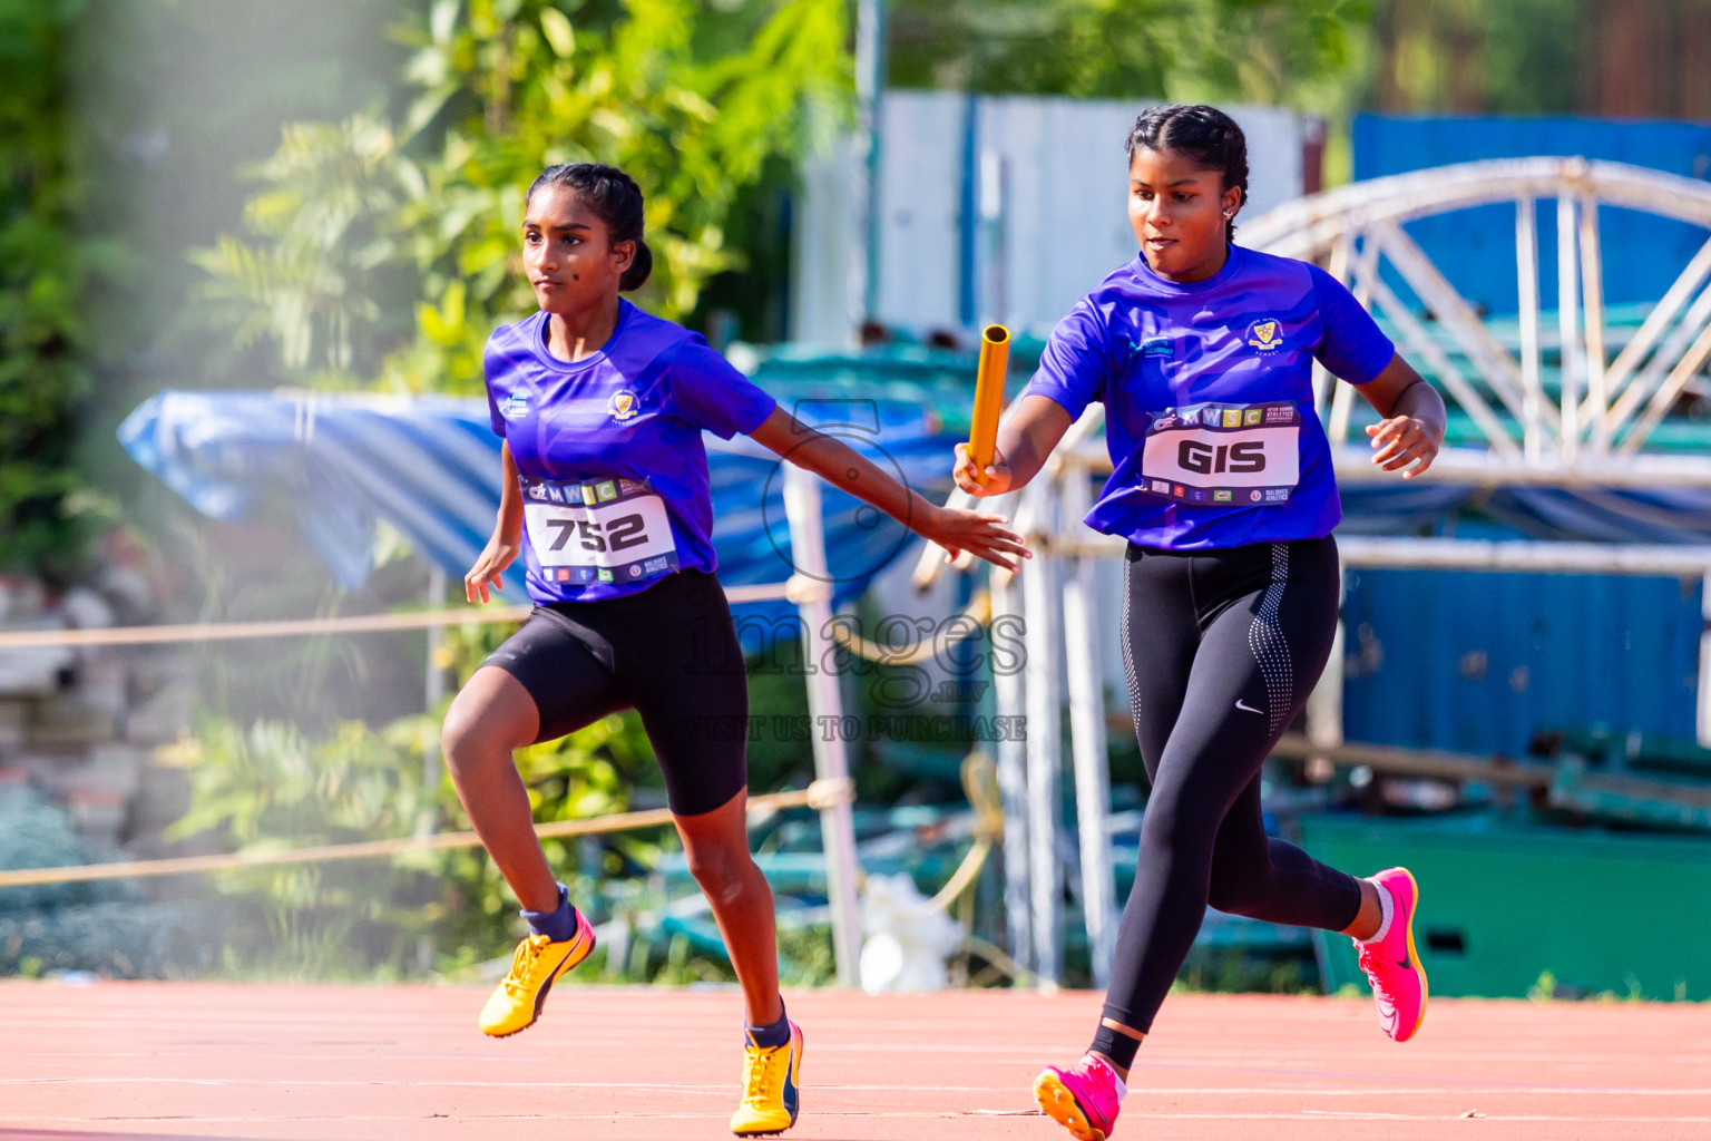
<instances>
[{"instance_id":1,"label":"blue corrugated panel below the white horizontal rail, right of runner GIS","mask_svg":"<svg viewBox=\"0 0 1711 1141\"><path fill-rule=\"evenodd\" d=\"M1694 736L1696 582L1362 570L1347 583L1350 741L1514 756L1547 725Z\"/></svg>"}]
</instances>

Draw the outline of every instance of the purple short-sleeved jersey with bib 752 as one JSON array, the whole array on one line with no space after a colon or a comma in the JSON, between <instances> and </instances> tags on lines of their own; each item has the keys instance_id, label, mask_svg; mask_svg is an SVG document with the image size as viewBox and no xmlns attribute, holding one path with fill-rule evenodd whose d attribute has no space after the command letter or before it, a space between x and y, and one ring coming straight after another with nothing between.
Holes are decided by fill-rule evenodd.
<instances>
[{"instance_id":1,"label":"purple short-sleeved jersey with bib 752","mask_svg":"<svg viewBox=\"0 0 1711 1141\"><path fill-rule=\"evenodd\" d=\"M529 597L594 602L686 568L713 571L702 431L729 440L777 402L700 334L619 301L606 346L571 364L548 315L488 339L488 411L517 460Z\"/></svg>"}]
</instances>

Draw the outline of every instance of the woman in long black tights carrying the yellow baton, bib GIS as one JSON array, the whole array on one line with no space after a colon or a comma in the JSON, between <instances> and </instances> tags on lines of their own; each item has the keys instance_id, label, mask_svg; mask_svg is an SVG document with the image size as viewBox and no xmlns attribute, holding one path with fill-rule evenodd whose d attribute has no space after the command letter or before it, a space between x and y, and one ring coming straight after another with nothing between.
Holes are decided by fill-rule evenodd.
<instances>
[{"instance_id":1,"label":"woman in long black tights carrying the yellow baton, bib GIS","mask_svg":"<svg viewBox=\"0 0 1711 1141\"><path fill-rule=\"evenodd\" d=\"M1329 274L1234 245L1247 144L1210 106L1162 106L1129 132L1129 222L1141 255L1052 330L999 428L977 496L1027 484L1093 400L1114 472L1086 515L1128 539L1124 665L1152 795L1140 864L1088 1052L1035 1079L1081 1141L1110 1134L1129 1066L1206 907L1350 934L1382 1030L1425 1016L1405 869L1355 879L1266 837L1259 766L1331 652L1341 503L1314 414L1312 361L1381 421L1372 462L1430 467L1444 402Z\"/></svg>"}]
</instances>

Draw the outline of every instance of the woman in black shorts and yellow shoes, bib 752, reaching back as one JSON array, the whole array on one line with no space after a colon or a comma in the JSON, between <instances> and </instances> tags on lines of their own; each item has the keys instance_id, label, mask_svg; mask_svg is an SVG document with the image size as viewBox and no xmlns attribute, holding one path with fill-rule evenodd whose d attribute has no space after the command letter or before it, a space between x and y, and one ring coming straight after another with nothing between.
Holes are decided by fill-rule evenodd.
<instances>
[{"instance_id":1,"label":"woman in black shorts and yellow shoes, bib 752, reaching back","mask_svg":"<svg viewBox=\"0 0 1711 1141\"><path fill-rule=\"evenodd\" d=\"M486 602L518 556L536 609L447 712L441 742L483 845L530 934L481 1011L481 1030L534 1025L594 931L553 878L512 751L633 706L707 893L746 1008L737 1136L796 1124L802 1032L779 996L772 893L749 857L748 679L715 576L702 431L744 433L951 551L1006 568L1027 556L1003 518L939 508L832 436L802 426L696 334L619 294L648 277L642 190L594 163L529 188L524 269L539 311L484 356L505 477L493 539L465 575ZM712 729L712 730L710 730Z\"/></svg>"}]
</instances>

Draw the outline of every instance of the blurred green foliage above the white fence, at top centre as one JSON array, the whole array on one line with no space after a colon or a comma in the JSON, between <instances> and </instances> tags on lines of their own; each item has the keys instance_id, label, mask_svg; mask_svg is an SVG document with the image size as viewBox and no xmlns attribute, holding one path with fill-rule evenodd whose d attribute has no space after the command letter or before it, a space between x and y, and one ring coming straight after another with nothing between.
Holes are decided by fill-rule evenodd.
<instances>
[{"instance_id":1,"label":"blurred green foliage above the white fence, at top centre","mask_svg":"<svg viewBox=\"0 0 1711 1141\"><path fill-rule=\"evenodd\" d=\"M1324 108L1367 0L895 0L900 87Z\"/></svg>"}]
</instances>

